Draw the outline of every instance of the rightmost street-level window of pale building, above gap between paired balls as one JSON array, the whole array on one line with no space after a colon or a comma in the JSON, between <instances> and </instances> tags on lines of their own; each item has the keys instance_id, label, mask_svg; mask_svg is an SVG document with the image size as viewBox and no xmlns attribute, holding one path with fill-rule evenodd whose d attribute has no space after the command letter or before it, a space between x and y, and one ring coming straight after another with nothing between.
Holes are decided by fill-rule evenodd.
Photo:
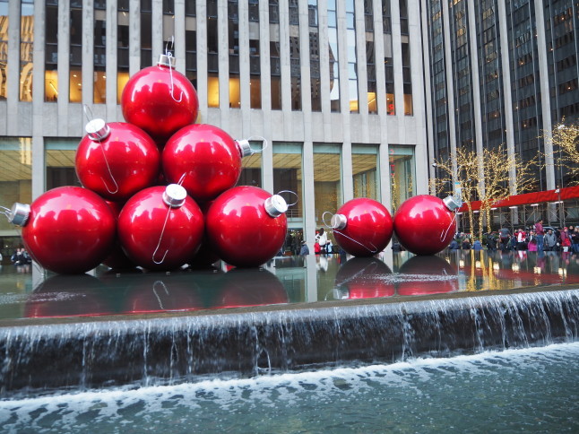
<instances>
[{"instance_id":1,"label":"rightmost street-level window of pale building, above gap between paired balls","mask_svg":"<svg viewBox=\"0 0 579 434\"><path fill-rule=\"evenodd\" d=\"M393 213L409 197L416 195L414 147L390 146L390 193Z\"/></svg>"}]
</instances>

